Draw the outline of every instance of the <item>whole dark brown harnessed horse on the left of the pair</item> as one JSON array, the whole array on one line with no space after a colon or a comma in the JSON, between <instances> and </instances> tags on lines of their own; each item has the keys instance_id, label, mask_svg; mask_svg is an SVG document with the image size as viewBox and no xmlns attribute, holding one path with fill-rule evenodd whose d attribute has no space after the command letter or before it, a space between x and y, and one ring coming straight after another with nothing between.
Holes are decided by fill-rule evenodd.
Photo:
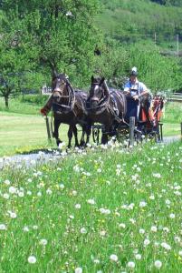
<instances>
[{"instance_id":1,"label":"whole dark brown harnessed horse on the left of the pair","mask_svg":"<svg viewBox=\"0 0 182 273\"><path fill-rule=\"evenodd\" d=\"M87 113L85 110L87 93L74 90L67 76L64 74L54 73L52 86L53 94L45 106L43 106L41 112L44 114L50 111L51 108L53 109L53 137L56 139L57 146L59 147L62 142L59 138L59 127L62 123L69 125L69 148L72 147L72 133L75 137L75 147L86 145L90 137L90 133L88 133ZM79 143L78 140L77 124L82 128L81 143ZM85 134L87 135L86 143L84 141Z\"/></svg>"}]
</instances>

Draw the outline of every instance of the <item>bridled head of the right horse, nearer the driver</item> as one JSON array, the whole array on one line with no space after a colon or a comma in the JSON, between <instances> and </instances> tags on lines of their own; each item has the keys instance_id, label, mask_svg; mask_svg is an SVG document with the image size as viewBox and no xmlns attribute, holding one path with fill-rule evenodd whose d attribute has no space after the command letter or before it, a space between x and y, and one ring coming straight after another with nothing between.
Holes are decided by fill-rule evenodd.
<instances>
[{"instance_id":1,"label":"bridled head of the right horse, nearer the driver","mask_svg":"<svg viewBox=\"0 0 182 273\"><path fill-rule=\"evenodd\" d=\"M91 76L91 89L90 89L90 106L96 108L99 106L101 99L106 96L106 88L104 86L104 77Z\"/></svg>"}]
</instances>

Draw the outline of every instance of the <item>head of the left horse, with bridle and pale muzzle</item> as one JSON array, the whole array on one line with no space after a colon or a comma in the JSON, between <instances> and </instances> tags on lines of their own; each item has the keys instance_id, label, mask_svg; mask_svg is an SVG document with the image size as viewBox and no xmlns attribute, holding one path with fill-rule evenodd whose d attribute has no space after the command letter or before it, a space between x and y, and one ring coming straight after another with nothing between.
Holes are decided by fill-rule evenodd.
<instances>
[{"instance_id":1,"label":"head of the left horse, with bridle and pale muzzle","mask_svg":"<svg viewBox=\"0 0 182 273\"><path fill-rule=\"evenodd\" d=\"M68 79L64 74L57 74L53 76L53 100L59 102L62 96L67 93Z\"/></svg>"}]
</instances>

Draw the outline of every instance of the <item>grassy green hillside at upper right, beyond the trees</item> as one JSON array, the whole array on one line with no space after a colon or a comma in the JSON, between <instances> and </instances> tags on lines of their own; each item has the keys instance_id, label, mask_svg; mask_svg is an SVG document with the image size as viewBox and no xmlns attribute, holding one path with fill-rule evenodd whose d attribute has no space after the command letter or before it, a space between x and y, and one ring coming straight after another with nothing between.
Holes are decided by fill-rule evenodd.
<instances>
[{"instance_id":1,"label":"grassy green hillside at upper right, beyond the trees","mask_svg":"<svg viewBox=\"0 0 182 273\"><path fill-rule=\"evenodd\" d=\"M182 49L182 1L101 0L101 5L97 23L106 35L121 42L154 41L170 49L176 48L178 35Z\"/></svg>"}]
</instances>

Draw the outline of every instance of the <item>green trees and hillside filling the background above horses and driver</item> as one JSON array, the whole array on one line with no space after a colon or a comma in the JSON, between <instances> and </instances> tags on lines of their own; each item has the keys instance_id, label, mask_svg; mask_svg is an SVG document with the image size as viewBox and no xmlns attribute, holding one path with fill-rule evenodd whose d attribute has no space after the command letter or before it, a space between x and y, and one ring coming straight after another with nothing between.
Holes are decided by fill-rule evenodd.
<instances>
[{"instance_id":1,"label":"green trees and hillside filling the background above horses and driver","mask_svg":"<svg viewBox=\"0 0 182 273\"><path fill-rule=\"evenodd\" d=\"M0 96L39 93L55 70L87 90L94 74L122 88L132 66L153 93L180 90L181 37L182 1L0 1Z\"/></svg>"}]
</instances>

